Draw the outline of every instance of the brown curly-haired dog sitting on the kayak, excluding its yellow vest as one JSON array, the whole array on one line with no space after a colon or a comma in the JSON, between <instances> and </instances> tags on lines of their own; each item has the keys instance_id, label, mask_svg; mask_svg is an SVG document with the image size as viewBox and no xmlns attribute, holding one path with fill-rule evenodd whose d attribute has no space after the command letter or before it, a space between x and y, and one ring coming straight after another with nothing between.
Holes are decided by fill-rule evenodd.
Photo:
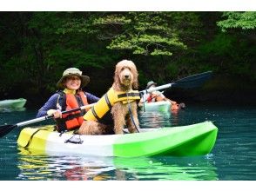
<instances>
[{"instance_id":1,"label":"brown curly-haired dog sitting on the kayak, excluding its yellow vest","mask_svg":"<svg viewBox=\"0 0 256 191\"><path fill-rule=\"evenodd\" d=\"M134 63L128 60L123 60L116 65L114 82L112 89L115 92L129 92L133 89L138 89L138 71ZM99 101L100 102L100 101ZM131 109L131 115L129 113ZM86 115L86 114L85 114ZM123 128L126 125L130 133L137 132L134 125L138 127L138 113L137 113L137 102L115 102L111 107L111 115L114 121L115 134L124 134ZM95 121L84 121L81 127L78 129L80 135L102 135L106 134L109 129L107 126L95 122Z\"/></svg>"}]
</instances>

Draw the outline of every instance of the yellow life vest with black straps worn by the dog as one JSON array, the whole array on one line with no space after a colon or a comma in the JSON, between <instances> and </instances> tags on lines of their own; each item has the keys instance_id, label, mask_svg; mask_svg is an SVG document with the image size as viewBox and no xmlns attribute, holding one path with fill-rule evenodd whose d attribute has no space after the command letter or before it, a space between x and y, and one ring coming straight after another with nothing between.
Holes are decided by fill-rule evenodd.
<instances>
[{"instance_id":1,"label":"yellow life vest with black straps worn by the dog","mask_svg":"<svg viewBox=\"0 0 256 191\"><path fill-rule=\"evenodd\" d=\"M138 90L115 91L113 88L103 95L100 100L84 115L84 120L99 121L116 102L127 104L140 100Z\"/></svg>"}]
</instances>

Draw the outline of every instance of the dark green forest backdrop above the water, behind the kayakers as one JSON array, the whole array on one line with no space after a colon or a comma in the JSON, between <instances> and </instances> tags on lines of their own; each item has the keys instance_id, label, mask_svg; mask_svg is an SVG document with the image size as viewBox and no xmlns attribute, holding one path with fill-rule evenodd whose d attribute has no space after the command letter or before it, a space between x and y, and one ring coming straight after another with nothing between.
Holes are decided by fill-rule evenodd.
<instances>
[{"instance_id":1,"label":"dark green forest backdrop above the water, behind the kayakers","mask_svg":"<svg viewBox=\"0 0 256 191\"><path fill-rule=\"evenodd\" d=\"M199 89L166 89L179 102L256 104L256 12L0 12L0 100L42 105L64 69L104 95L116 63L136 63L139 89L212 70Z\"/></svg>"}]
</instances>

